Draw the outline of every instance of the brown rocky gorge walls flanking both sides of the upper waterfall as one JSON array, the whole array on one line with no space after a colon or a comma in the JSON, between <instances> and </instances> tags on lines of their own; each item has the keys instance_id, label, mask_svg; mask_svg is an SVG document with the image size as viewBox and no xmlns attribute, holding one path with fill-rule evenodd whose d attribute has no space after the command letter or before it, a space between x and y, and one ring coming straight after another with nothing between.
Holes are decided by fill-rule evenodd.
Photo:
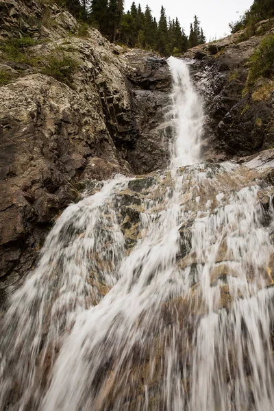
<instances>
[{"instance_id":1,"label":"brown rocky gorge walls flanking both sides of the upper waterfall","mask_svg":"<svg viewBox=\"0 0 274 411\"><path fill-rule=\"evenodd\" d=\"M112 45L96 29L82 34L75 18L54 4L1 0L0 13L4 300L5 290L34 267L56 216L114 173L164 169L172 130L164 124L171 92L164 59ZM246 39L240 32L184 55L193 59L192 77L204 96L202 147L210 162L273 147L272 82L258 84L255 97L255 89L242 97L248 59L272 27L263 22L260 35ZM32 42L14 55L11 40L19 37ZM73 66L68 77L60 81L51 60ZM268 91L260 93L266 83Z\"/></svg>"}]
</instances>

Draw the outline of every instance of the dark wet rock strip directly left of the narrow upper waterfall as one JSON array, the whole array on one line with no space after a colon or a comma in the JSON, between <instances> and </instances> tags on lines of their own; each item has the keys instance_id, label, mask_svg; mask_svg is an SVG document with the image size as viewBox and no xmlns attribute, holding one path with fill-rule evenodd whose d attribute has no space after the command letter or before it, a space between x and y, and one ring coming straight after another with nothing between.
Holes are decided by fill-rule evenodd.
<instances>
[{"instance_id":1,"label":"dark wet rock strip directly left of the narrow upper waterfall","mask_svg":"<svg viewBox=\"0 0 274 411\"><path fill-rule=\"evenodd\" d=\"M164 169L169 160L169 136L164 116L170 103L171 73L166 60L144 50L126 53L127 74L134 90L136 140L128 152L129 164L138 173Z\"/></svg>"}]
</instances>

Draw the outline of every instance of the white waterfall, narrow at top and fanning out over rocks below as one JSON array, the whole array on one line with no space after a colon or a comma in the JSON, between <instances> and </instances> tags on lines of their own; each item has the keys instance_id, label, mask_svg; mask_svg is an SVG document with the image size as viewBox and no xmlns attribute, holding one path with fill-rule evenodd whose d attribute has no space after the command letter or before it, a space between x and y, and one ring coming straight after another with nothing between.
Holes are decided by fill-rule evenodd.
<instances>
[{"instance_id":1,"label":"white waterfall, narrow at top and fanning out over rocks below","mask_svg":"<svg viewBox=\"0 0 274 411\"><path fill-rule=\"evenodd\" d=\"M171 170L116 176L60 216L2 321L1 411L273 409L263 188L195 164L202 105L169 65Z\"/></svg>"}]
</instances>

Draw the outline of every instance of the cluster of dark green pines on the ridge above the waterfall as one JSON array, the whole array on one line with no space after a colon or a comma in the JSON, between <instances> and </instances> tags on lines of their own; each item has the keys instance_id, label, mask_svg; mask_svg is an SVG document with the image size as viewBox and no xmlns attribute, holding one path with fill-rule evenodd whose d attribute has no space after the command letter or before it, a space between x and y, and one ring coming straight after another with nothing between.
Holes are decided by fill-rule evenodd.
<instances>
[{"instance_id":1,"label":"cluster of dark green pines on the ridge above the waterfall","mask_svg":"<svg viewBox=\"0 0 274 411\"><path fill-rule=\"evenodd\" d=\"M60 0L61 1L61 0ZM166 21L166 11L161 7L160 20L157 23L151 14L149 5L142 12L140 4L132 3L130 11L123 12L124 0L62 0L73 14L88 20L97 27L110 41L121 41L129 47L142 47L158 51L165 57L180 55L188 47L194 47L206 41L203 29L195 15L190 25L189 41L178 18ZM274 0L255 0L274 1Z\"/></svg>"}]
</instances>

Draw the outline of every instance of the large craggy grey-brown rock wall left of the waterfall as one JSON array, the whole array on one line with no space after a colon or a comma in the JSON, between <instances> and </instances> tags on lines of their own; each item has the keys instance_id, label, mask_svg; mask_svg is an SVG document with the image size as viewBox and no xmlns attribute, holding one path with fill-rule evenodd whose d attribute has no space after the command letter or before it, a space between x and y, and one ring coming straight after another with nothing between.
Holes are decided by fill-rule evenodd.
<instances>
[{"instance_id":1,"label":"large craggy grey-brown rock wall left of the waterfall","mask_svg":"<svg viewBox=\"0 0 274 411\"><path fill-rule=\"evenodd\" d=\"M161 125L171 76L153 53L117 52L96 29L80 37L79 23L57 5L0 1L0 14L5 288L32 269L55 216L90 180L164 167ZM33 42L9 55L5 45L24 36ZM68 78L56 75L62 59L73 66Z\"/></svg>"}]
</instances>

